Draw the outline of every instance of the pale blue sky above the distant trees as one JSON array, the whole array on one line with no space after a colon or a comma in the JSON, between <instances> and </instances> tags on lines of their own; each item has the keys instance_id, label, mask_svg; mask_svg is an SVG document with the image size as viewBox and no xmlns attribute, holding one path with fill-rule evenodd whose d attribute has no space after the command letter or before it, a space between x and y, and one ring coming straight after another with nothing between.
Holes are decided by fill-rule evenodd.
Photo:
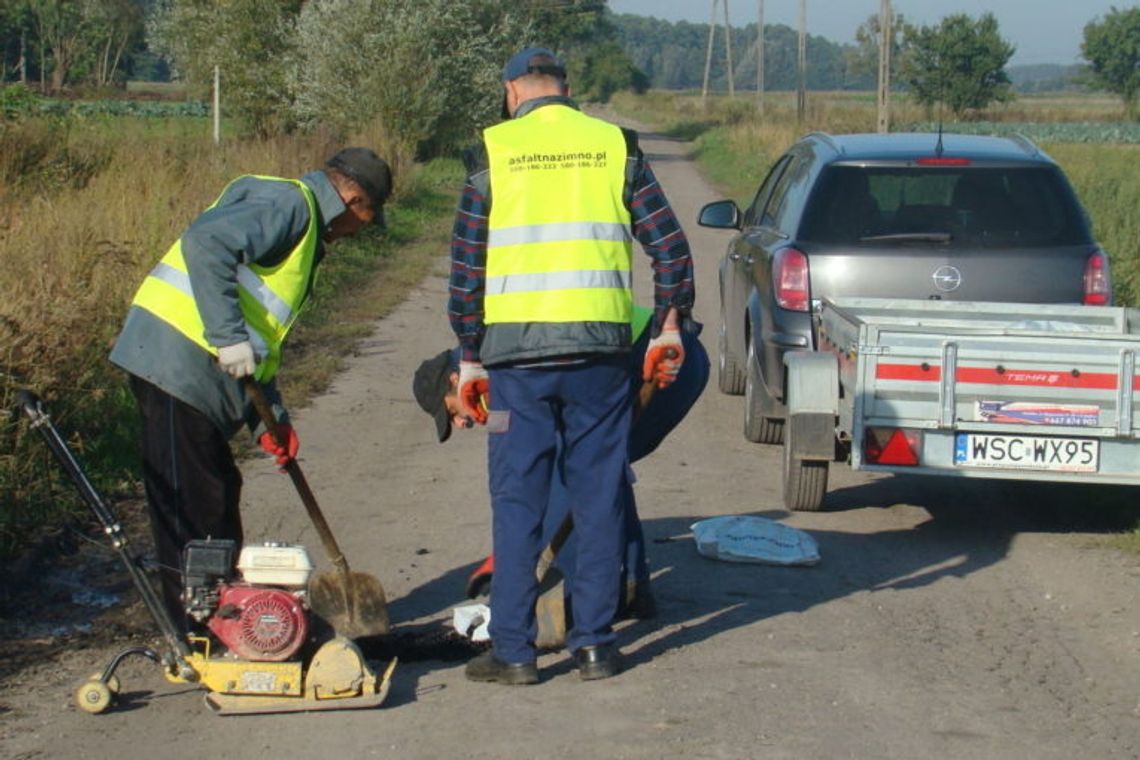
<instances>
[{"instance_id":1,"label":"pale blue sky above the distant trees","mask_svg":"<svg viewBox=\"0 0 1140 760\"><path fill-rule=\"evenodd\" d=\"M716 11L718 24L724 21L725 2L730 24L756 23L757 0L720 0ZM609 3L616 14L656 16L669 22L707 24L712 10L712 0L609 0ZM807 0L807 33L833 42L854 42L855 28L869 16L878 15L879 5L879 0ZM977 18L992 13L1002 38L1017 48L1010 59L1013 66L1082 63L1084 25L1104 17L1113 6L1124 10L1135 5L1130 0L891 0L895 14L923 25L935 25L951 14ZM799 28L799 0L764 0L764 24Z\"/></svg>"}]
</instances>

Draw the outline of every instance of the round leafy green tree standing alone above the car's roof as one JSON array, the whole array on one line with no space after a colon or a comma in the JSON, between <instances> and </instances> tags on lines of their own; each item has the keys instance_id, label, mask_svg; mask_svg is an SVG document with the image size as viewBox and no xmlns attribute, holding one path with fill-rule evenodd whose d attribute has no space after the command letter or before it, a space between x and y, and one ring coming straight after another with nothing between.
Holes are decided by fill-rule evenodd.
<instances>
[{"instance_id":1,"label":"round leafy green tree standing alone above the car's roof","mask_svg":"<svg viewBox=\"0 0 1140 760\"><path fill-rule=\"evenodd\" d=\"M1005 64L1015 48L993 14L946 16L937 26L907 27L904 36L899 73L919 104L944 103L961 116L1013 97Z\"/></svg>"}]
</instances>

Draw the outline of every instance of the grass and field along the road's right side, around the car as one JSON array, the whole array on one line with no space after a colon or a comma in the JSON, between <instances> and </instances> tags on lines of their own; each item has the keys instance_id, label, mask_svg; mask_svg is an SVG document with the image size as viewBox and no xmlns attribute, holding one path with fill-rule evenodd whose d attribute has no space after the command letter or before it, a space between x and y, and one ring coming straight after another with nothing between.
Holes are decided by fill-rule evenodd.
<instances>
[{"instance_id":1,"label":"grass and field along the road's right side, around the car","mask_svg":"<svg viewBox=\"0 0 1140 760\"><path fill-rule=\"evenodd\" d=\"M693 156L723 194L746 206L779 156L801 134L812 131L874 131L876 104L865 93L808 93L804 123L796 119L795 95L766 93L759 109L755 93L738 93L735 100L699 93L620 93L612 107L629 119L652 125L666 134L693 140ZM1029 96L995 106L980 114L987 122L1122 122L1124 108L1107 96ZM929 120L905 98L896 99L894 124ZM946 123L947 132L954 131ZM1140 146L1114 142L1042 142L1068 175L1092 219L1093 234L1109 254L1116 302L1140 305ZM668 188L666 188L668 190ZM685 223L693 223L685 220ZM1131 532L1114 537L1115 546L1140 554L1140 517L1129 508L1121 524Z\"/></svg>"}]
</instances>

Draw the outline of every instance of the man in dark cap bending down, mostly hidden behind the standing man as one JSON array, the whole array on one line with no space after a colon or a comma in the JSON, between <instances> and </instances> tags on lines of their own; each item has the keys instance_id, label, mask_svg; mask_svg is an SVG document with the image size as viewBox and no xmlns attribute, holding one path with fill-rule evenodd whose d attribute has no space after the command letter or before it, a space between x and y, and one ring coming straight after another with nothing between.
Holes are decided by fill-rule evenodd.
<instances>
[{"instance_id":1,"label":"man in dark cap bending down, mostly hidden behind the standing man","mask_svg":"<svg viewBox=\"0 0 1140 760\"><path fill-rule=\"evenodd\" d=\"M661 441L684 419L685 415L700 398L709 378L709 359L698 335L700 326L692 324L692 329L682 330L681 340L685 360L677 373L677 378L665 389L656 389L652 383L642 381L645 363L645 352L649 348L649 321L652 312L649 309L634 307L633 313L633 350L628 356L629 399L634 412L629 430L629 461L634 463L657 450ZM435 433L440 443L447 441L453 428L470 428L472 420L463 412L457 395L459 379L459 350L442 351L425 360L416 370L413 391L416 401L432 416ZM646 386L652 389L651 394ZM648 397L648 400L646 400ZM557 471L557 468L555 468ZM641 518L634 498L634 477L627 468L621 483L620 497L625 502L625 550L621 566L621 606L617 619L648 619L656 614L657 605L650 588L649 563L645 556L645 538ZM543 518L543 546L549 546L570 514L569 495L565 483L554 477L547 499L546 513ZM537 645L561 646L565 638L565 610L569 607L569 589L575 575L575 557L577 555L576 533L570 532L554 558L554 567L563 582L557 587L544 590L539 599L538 639ZM470 598L489 590L495 567L494 555L487 557L471 573L467 580L466 595ZM546 585L544 585L544 589ZM563 595L567 598L563 600ZM551 610L552 605L565 605ZM544 614L545 612L545 614ZM553 612L553 614L551 614Z\"/></svg>"}]
</instances>

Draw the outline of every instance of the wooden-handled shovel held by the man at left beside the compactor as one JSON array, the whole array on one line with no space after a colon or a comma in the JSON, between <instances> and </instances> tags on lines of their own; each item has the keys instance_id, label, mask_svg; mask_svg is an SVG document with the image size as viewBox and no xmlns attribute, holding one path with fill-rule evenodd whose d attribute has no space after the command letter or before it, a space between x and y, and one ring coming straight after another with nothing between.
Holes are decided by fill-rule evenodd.
<instances>
[{"instance_id":1,"label":"wooden-handled shovel held by the man at left beside the compactor","mask_svg":"<svg viewBox=\"0 0 1140 760\"><path fill-rule=\"evenodd\" d=\"M252 377L245 382L245 391L253 401L261 422L266 424L274 439L282 446L286 444L280 426L274 417L274 411L266 400L261 386ZM314 575L309 581L309 606L320 618L328 622L341 636L348 638L359 638L363 636L380 636L388 634L390 624L388 620L388 599L384 596L384 587L380 581L367 573L353 572L349 570L348 559L336 545L333 531L325 522L325 515L317 506L317 498L312 495L301 465L296 459L290 459L285 465L285 471L293 479L293 485L304 504L306 512L312 521L312 526L317 529L317 536L325 547L329 562L336 567L336 572L320 573Z\"/></svg>"}]
</instances>

